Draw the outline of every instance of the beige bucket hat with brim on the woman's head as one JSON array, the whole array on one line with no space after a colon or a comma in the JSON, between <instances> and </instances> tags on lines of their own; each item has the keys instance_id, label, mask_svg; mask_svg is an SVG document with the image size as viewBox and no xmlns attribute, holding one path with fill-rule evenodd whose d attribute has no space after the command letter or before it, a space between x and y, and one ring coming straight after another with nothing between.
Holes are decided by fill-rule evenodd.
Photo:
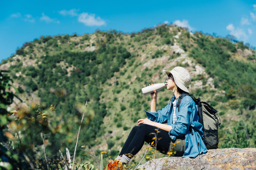
<instances>
[{"instance_id":1,"label":"beige bucket hat with brim on the woman's head","mask_svg":"<svg viewBox=\"0 0 256 170\"><path fill-rule=\"evenodd\" d=\"M163 70L168 76L169 73L174 76L174 81L177 84L177 86L183 90L189 93L188 91L188 85L191 83L191 76L189 72L184 69L183 67L174 67L171 71Z\"/></svg>"}]
</instances>

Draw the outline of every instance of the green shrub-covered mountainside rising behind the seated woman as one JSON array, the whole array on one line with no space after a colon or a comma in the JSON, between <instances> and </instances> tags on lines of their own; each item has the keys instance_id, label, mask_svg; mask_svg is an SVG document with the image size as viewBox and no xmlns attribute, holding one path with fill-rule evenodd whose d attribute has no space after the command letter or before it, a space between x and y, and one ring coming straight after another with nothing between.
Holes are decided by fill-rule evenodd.
<instances>
[{"instance_id":1,"label":"green shrub-covered mountainside rising behind the seated woman","mask_svg":"<svg viewBox=\"0 0 256 170\"><path fill-rule=\"evenodd\" d=\"M63 155L65 148L74 152L85 112L76 162L93 160L100 169L100 155L104 164L114 159L137 120L146 117L143 110L150 110L151 97L141 88L165 82L162 70L175 66L190 72L191 94L219 111L219 148L255 148L255 50L243 42L165 24L131 34L97 30L26 42L0 63L0 70L9 70L8 84L13 85L1 87L5 143L26 153L30 166L47 169L47 155L50 166L57 168L66 161L59 150ZM20 99L3 103L4 89ZM157 109L171 94L159 91Z\"/></svg>"}]
</instances>

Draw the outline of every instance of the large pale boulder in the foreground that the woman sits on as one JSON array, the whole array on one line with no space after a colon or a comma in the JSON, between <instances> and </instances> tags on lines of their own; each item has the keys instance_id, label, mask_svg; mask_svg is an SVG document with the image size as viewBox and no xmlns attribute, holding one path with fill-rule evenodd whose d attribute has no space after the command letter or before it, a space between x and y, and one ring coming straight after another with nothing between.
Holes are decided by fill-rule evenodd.
<instances>
[{"instance_id":1,"label":"large pale boulder in the foreground that the woman sits on","mask_svg":"<svg viewBox=\"0 0 256 170\"><path fill-rule=\"evenodd\" d=\"M256 170L256 148L212 149L194 159L189 157L162 157L142 164L139 169Z\"/></svg>"}]
</instances>

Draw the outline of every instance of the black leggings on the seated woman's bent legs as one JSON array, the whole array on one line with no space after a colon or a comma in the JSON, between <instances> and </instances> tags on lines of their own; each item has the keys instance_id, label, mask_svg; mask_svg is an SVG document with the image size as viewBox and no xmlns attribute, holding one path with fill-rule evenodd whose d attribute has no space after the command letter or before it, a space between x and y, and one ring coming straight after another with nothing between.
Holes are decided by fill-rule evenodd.
<instances>
[{"instance_id":1,"label":"black leggings on the seated woman's bent legs","mask_svg":"<svg viewBox=\"0 0 256 170\"><path fill-rule=\"evenodd\" d=\"M120 152L120 156L123 154L132 154L136 155L139 150L141 150L144 142L151 143L155 140L152 138L155 137L155 134L157 135L157 138L161 138L157 140L156 149L164 154L166 154L169 150L169 146L171 143L171 138L168 134L168 132L158 129L158 132L156 131L155 126L147 125L147 124L141 124L139 126L134 126L132 128L132 131L130 132L127 140L124 143L124 146ZM155 134L152 134L155 133ZM153 143L153 145L155 142Z\"/></svg>"}]
</instances>

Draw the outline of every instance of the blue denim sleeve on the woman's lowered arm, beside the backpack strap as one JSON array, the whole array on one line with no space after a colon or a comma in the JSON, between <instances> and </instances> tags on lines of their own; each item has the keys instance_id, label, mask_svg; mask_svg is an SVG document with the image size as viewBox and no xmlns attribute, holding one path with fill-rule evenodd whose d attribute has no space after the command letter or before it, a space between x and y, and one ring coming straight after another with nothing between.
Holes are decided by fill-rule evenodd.
<instances>
[{"instance_id":1,"label":"blue denim sleeve on the woman's lowered arm, beside the backpack strap","mask_svg":"<svg viewBox=\"0 0 256 170\"><path fill-rule=\"evenodd\" d=\"M191 124L190 115L193 112L193 105L189 98L184 97L182 99L179 110L179 112L176 112L177 121L175 124L170 124L172 129L169 131L169 135L172 139L176 138L176 136L185 135L189 130L189 126Z\"/></svg>"}]
</instances>

